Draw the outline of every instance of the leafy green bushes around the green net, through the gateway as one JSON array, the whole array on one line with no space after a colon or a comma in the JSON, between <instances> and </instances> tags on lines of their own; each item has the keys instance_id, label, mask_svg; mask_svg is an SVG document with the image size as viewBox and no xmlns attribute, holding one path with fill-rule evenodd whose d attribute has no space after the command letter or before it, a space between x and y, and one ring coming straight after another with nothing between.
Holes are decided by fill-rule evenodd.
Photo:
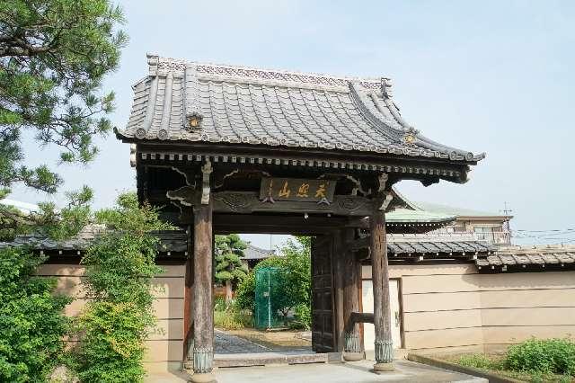
<instances>
[{"instance_id":1,"label":"leafy green bushes around the green net, through the gateway","mask_svg":"<svg viewBox=\"0 0 575 383\"><path fill-rule=\"evenodd\" d=\"M273 256L258 263L237 289L236 304L255 311L255 273L264 267L277 267L281 272L275 286L272 309L279 310L287 319L288 312L296 307L296 319L305 327L311 326L311 238L296 237ZM303 307L310 307L310 315Z\"/></svg>"}]
</instances>

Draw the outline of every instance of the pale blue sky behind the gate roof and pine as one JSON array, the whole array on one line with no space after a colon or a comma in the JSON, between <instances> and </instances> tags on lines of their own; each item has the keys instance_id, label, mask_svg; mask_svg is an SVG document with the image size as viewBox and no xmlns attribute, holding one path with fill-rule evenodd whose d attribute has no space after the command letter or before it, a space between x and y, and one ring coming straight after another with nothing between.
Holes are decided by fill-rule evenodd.
<instances>
[{"instance_id":1,"label":"pale blue sky behind the gate roof and pine","mask_svg":"<svg viewBox=\"0 0 575 383\"><path fill-rule=\"evenodd\" d=\"M494 212L509 201L515 229L575 227L575 2L164 0L122 5L130 42L119 70L105 84L117 93L112 120L120 129L128 120L130 85L146 76L146 52L389 76L403 116L423 134L488 155L473 169L470 182L428 188L403 182L399 188L406 196ZM54 163L53 150L27 148L29 162ZM118 191L135 188L128 145L110 136L101 149L86 168L60 167L63 189L89 184L97 207L111 205ZM45 196L17 188L11 198L34 202ZM575 240L575 232L555 237ZM269 237L254 242L269 243Z\"/></svg>"}]
</instances>

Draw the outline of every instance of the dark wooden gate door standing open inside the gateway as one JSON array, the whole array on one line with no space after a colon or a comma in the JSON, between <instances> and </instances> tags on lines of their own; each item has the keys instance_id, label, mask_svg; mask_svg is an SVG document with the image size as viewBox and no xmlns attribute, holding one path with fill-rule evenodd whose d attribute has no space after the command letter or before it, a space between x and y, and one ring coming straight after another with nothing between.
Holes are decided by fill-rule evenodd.
<instances>
[{"instance_id":1,"label":"dark wooden gate door standing open inside the gateway","mask_svg":"<svg viewBox=\"0 0 575 383\"><path fill-rule=\"evenodd\" d=\"M333 315L333 236L312 241L312 349L335 352Z\"/></svg>"}]
</instances>

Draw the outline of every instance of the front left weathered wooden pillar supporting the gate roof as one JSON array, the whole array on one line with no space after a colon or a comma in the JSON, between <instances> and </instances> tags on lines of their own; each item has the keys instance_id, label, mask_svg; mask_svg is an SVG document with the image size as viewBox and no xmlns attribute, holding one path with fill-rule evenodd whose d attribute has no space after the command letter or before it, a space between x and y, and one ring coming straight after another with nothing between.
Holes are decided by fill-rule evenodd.
<instances>
[{"instance_id":1,"label":"front left weathered wooden pillar supporting the gate roof","mask_svg":"<svg viewBox=\"0 0 575 383\"><path fill-rule=\"evenodd\" d=\"M194 207L194 382L215 381L211 375L214 361L212 238L212 199L209 198L207 204Z\"/></svg>"}]
</instances>

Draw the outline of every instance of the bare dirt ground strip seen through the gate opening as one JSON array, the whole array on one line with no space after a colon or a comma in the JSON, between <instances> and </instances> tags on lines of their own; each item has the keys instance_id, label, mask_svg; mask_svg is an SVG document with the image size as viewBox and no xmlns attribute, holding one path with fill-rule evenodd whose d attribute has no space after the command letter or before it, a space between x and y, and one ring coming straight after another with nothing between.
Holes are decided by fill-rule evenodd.
<instances>
[{"instance_id":1,"label":"bare dirt ground strip seen through the gate opening","mask_svg":"<svg viewBox=\"0 0 575 383\"><path fill-rule=\"evenodd\" d=\"M300 330L266 331L243 328L240 330L226 330L226 333L253 343L259 343L268 348L305 348L312 346L311 334Z\"/></svg>"}]
</instances>

